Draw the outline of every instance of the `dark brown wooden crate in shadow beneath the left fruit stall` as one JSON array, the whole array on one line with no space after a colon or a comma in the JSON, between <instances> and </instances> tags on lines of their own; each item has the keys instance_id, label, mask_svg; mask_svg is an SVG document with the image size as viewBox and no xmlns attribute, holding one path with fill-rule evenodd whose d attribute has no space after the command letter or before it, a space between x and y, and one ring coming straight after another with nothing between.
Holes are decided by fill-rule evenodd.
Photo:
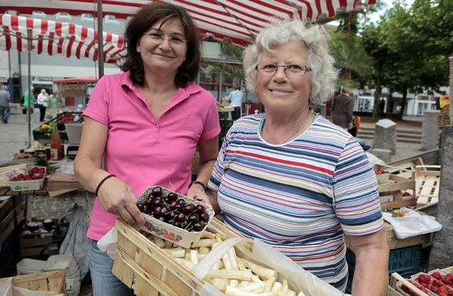
<instances>
[{"instance_id":1,"label":"dark brown wooden crate in shadow beneath the left fruit stall","mask_svg":"<svg viewBox=\"0 0 453 296\"><path fill-rule=\"evenodd\" d=\"M19 246L21 248L21 257L30 257L30 256L39 256L39 255L48 255L49 247L52 244L53 240L52 232L47 232L42 234L19 234Z\"/></svg>"}]
</instances>

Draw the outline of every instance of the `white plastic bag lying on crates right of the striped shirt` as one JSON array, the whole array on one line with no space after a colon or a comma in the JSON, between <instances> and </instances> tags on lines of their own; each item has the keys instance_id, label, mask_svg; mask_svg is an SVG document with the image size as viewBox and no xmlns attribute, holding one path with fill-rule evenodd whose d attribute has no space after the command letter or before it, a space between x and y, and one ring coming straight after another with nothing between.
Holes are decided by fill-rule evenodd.
<instances>
[{"instance_id":1,"label":"white plastic bag lying on crates right of the striped shirt","mask_svg":"<svg viewBox=\"0 0 453 296\"><path fill-rule=\"evenodd\" d=\"M435 217L420 215L407 207L401 207L400 212L406 212L403 217L393 217L391 212L382 212L382 217L394 227L398 239L407 239L420 234L438 232L442 225L435 220Z\"/></svg>"}]
</instances>

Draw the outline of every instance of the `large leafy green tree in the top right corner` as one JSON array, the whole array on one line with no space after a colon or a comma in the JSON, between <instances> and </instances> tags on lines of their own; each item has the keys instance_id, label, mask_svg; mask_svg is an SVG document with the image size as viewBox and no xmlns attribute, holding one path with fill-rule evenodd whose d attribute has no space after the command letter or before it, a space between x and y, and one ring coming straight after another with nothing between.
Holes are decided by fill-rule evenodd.
<instances>
[{"instance_id":1,"label":"large leafy green tree in the top right corner","mask_svg":"<svg viewBox=\"0 0 453 296\"><path fill-rule=\"evenodd\" d=\"M452 6L451 0L415 0L411 8L405 8L395 1L384 17L384 43L391 55L398 56L386 74L386 86L403 94L400 119L408 91L438 91L448 85Z\"/></svg>"}]
</instances>

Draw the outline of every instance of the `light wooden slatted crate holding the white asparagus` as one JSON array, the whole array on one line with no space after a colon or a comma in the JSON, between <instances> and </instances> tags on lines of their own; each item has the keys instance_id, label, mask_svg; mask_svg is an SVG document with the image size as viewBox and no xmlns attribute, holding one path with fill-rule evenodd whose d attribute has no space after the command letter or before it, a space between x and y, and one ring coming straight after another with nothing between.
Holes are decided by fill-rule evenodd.
<instances>
[{"instance_id":1,"label":"light wooden slatted crate holding the white asparagus","mask_svg":"<svg viewBox=\"0 0 453 296\"><path fill-rule=\"evenodd\" d=\"M227 237L241 237L215 218L211 220L210 226L219 229L219 232L226 234ZM112 272L128 287L132 287L135 277L135 295L200 295L205 285L204 281L195 278L188 269L183 268L174 258L122 220L117 220L115 227L117 252ZM241 241L234 248L239 257L253 261L253 258L248 256L253 251L253 242ZM291 283L289 285L291 286Z\"/></svg>"}]
</instances>

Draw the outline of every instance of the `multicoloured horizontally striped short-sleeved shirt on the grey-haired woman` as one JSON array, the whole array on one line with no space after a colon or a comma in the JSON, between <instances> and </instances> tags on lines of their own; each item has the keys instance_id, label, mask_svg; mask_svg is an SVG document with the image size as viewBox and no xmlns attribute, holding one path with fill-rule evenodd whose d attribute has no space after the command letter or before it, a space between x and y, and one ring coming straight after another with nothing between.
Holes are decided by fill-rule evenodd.
<instances>
[{"instance_id":1,"label":"multicoloured horizontally striped short-sleeved shirt on the grey-haired woman","mask_svg":"<svg viewBox=\"0 0 453 296\"><path fill-rule=\"evenodd\" d=\"M345 290L343 234L383 225L372 166L355 138L326 118L285 144L263 140L263 118L237 120L220 149L208 186L224 222Z\"/></svg>"}]
</instances>

